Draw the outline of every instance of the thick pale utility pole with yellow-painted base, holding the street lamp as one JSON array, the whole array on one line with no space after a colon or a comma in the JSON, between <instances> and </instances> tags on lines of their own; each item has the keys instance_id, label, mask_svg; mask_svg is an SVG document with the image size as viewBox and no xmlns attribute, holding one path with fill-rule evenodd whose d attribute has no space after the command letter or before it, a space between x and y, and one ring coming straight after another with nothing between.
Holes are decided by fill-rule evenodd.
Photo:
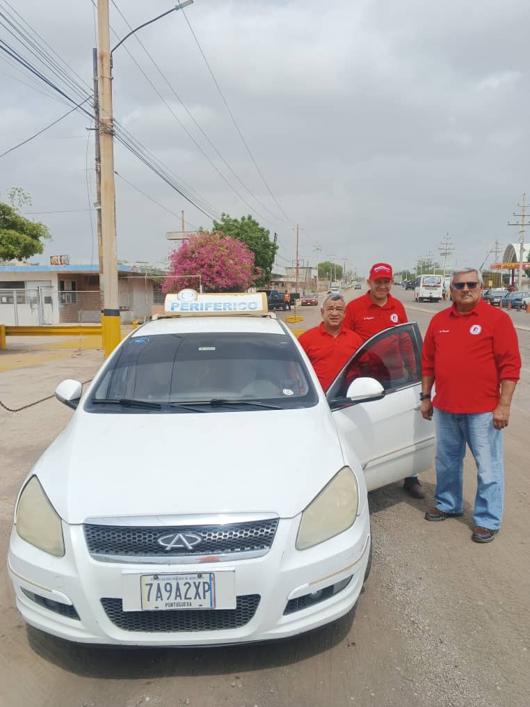
<instances>
[{"instance_id":1,"label":"thick pale utility pole with yellow-painted base, holding the street lamp","mask_svg":"<svg viewBox=\"0 0 530 707\"><path fill-rule=\"evenodd\" d=\"M101 147L101 240L103 349L109 356L121 337L116 250L116 204L114 187L114 120L112 117L112 63L110 57L109 0L98 0L98 66Z\"/></svg>"}]
</instances>

